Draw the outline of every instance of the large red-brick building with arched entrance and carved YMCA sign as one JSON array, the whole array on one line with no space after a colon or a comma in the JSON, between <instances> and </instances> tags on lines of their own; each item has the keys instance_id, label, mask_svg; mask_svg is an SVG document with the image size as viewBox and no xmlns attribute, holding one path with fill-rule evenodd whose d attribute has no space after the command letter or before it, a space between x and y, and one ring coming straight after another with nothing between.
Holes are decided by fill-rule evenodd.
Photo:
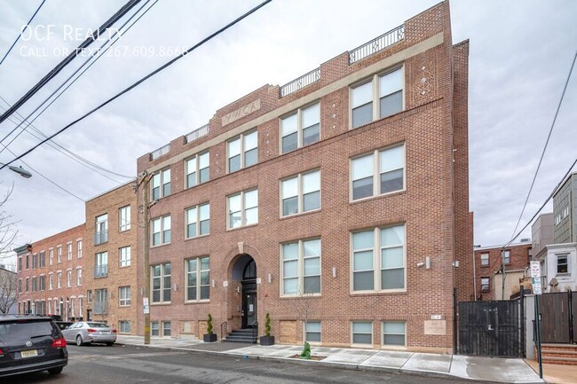
<instances>
[{"instance_id":1,"label":"large red-brick building with arched entrance and carved YMCA sign","mask_svg":"<svg viewBox=\"0 0 577 384\"><path fill-rule=\"evenodd\" d=\"M454 287L473 294L468 50L444 2L141 156L151 333L202 338L211 314L219 338L263 334L268 312L281 343L451 350Z\"/></svg>"}]
</instances>

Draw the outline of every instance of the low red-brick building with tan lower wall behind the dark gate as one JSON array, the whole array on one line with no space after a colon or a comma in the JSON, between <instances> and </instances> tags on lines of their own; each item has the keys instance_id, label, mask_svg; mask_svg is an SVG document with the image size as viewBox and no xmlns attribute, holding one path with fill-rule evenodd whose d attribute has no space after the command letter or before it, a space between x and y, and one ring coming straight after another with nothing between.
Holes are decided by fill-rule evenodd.
<instances>
[{"instance_id":1,"label":"low red-brick building with tan lower wall behind the dark gate","mask_svg":"<svg viewBox=\"0 0 577 384\"><path fill-rule=\"evenodd\" d=\"M502 252L502 246L475 248L476 294L478 300L502 300L502 266L505 267L504 299L519 292L520 279L526 277L526 270L533 255L532 243L523 239L511 244Z\"/></svg>"}]
</instances>

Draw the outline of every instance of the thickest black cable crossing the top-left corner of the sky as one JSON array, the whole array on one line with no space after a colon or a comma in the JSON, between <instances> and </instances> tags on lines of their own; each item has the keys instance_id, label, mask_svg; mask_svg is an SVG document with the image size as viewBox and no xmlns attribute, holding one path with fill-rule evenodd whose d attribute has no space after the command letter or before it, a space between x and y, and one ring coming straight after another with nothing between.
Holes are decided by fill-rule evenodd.
<instances>
[{"instance_id":1,"label":"thickest black cable crossing the top-left corner of the sky","mask_svg":"<svg viewBox=\"0 0 577 384\"><path fill-rule=\"evenodd\" d=\"M60 61L59 65L54 67L48 74L46 74L40 82L37 82L36 85L28 92L20 98L13 106L8 108L2 116L0 116L0 123L8 118L11 114L13 114L20 106L28 101L29 98L32 98L38 90L40 90L47 82L50 82L54 76L59 74L59 72L66 67L72 60L74 60L78 54L82 53L82 51L91 45L91 43L95 42L101 33L101 31L106 30L108 27L111 27L116 21L120 20L127 12L130 11L136 4L138 4L140 0L129 0L128 3L124 4L124 6L116 12L110 19L108 19L104 24L102 24L96 31L92 33L91 36L87 37L86 40L83 41L75 51L71 52L65 59Z\"/></svg>"}]
</instances>

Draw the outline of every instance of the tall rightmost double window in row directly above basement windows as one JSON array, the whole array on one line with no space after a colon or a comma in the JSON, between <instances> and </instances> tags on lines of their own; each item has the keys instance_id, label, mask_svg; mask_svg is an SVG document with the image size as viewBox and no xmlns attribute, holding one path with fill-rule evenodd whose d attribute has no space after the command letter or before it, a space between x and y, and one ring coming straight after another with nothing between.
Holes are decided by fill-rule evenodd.
<instances>
[{"instance_id":1,"label":"tall rightmost double window in row directly above basement windows","mask_svg":"<svg viewBox=\"0 0 577 384\"><path fill-rule=\"evenodd\" d=\"M352 270L353 291L404 289L405 225L352 233Z\"/></svg>"}]
</instances>

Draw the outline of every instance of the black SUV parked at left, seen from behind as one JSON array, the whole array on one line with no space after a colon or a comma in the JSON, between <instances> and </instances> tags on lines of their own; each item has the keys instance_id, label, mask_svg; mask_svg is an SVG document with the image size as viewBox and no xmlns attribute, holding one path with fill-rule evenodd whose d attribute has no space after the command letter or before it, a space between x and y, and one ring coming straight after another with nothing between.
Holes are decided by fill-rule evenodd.
<instances>
[{"instance_id":1,"label":"black SUV parked at left, seen from behind","mask_svg":"<svg viewBox=\"0 0 577 384\"><path fill-rule=\"evenodd\" d=\"M66 341L51 317L0 316L0 377L48 370L68 364Z\"/></svg>"}]
</instances>

